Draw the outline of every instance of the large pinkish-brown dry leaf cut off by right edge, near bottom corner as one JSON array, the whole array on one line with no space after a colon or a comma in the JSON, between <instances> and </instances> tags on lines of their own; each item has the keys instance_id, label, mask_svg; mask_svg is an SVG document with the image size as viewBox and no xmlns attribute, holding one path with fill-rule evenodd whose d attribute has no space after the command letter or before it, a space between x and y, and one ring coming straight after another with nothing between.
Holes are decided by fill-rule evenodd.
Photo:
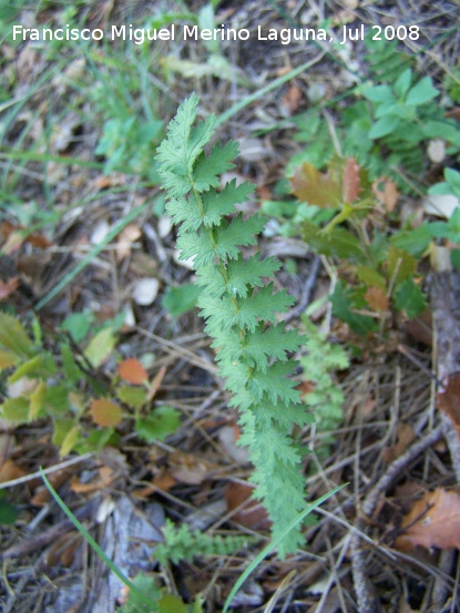
<instances>
[{"instance_id":1,"label":"large pinkish-brown dry leaf cut off by right edge, near bottom corner","mask_svg":"<svg viewBox=\"0 0 460 613\"><path fill-rule=\"evenodd\" d=\"M395 543L400 551L416 545L460 549L460 494L442 488L426 492L402 518L401 529Z\"/></svg>"}]
</instances>

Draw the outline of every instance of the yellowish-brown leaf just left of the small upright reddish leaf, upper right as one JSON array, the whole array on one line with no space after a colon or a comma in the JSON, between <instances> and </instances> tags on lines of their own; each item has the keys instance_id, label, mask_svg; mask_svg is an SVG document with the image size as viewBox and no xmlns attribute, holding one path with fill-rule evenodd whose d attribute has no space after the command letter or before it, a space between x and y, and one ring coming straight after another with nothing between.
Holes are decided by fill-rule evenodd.
<instances>
[{"instance_id":1,"label":"yellowish-brown leaf just left of the small upright reddish leaf, upper right","mask_svg":"<svg viewBox=\"0 0 460 613\"><path fill-rule=\"evenodd\" d=\"M304 162L290 178L293 193L299 201L320 207L335 207L341 202L341 190L330 173L320 173L313 164Z\"/></svg>"}]
</instances>

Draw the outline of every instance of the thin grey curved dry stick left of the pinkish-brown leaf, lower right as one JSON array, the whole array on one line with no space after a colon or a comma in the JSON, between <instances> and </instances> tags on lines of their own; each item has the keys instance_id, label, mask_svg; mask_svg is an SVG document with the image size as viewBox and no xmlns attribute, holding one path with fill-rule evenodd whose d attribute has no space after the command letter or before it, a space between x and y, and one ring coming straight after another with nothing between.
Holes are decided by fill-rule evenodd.
<instances>
[{"instance_id":1,"label":"thin grey curved dry stick left of the pinkish-brown leaf, lower right","mask_svg":"<svg viewBox=\"0 0 460 613\"><path fill-rule=\"evenodd\" d=\"M391 462L361 505L361 514L356 522L358 530L361 532L365 531L366 518L372 515L380 497L400 478L402 469L410 464L410 462L418 458L426 449L438 442L442 435L443 427L441 425L435 430L431 430L423 439L412 445L403 456L400 456ZM358 611L359 613L378 613L380 611L380 602L375 595L374 586L368 580L365 551L360 545L361 539L359 534L355 532L351 538L351 568L355 591L358 599Z\"/></svg>"}]
</instances>

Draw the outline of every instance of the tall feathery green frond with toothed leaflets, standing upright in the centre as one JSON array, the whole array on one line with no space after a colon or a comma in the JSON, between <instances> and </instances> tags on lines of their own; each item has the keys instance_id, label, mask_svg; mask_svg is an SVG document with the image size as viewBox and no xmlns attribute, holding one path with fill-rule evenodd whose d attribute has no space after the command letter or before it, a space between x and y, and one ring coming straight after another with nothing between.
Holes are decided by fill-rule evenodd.
<instances>
[{"instance_id":1,"label":"tall feathery green frond with toothed leaflets, standing upright in the centre","mask_svg":"<svg viewBox=\"0 0 460 613\"><path fill-rule=\"evenodd\" d=\"M275 292L273 277L279 263L259 254L244 257L242 247L256 244L264 227L258 215L235 215L235 205L253 187L235 180L219 190L219 175L231 167L237 144L204 146L214 134L215 118L195 124L198 98L192 94L172 120L156 156L166 211L178 224L181 258L193 258L197 283L203 287L198 306L206 330L214 337L219 374L239 410L241 441L249 448L255 467L252 481L280 537L293 517L306 508L301 450L292 437L293 425L313 421L299 407L299 392L290 377L296 361L289 357L305 339L286 330L277 313L293 304L285 290ZM279 555L303 542L300 527L280 543Z\"/></svg>"}]
</instances>

